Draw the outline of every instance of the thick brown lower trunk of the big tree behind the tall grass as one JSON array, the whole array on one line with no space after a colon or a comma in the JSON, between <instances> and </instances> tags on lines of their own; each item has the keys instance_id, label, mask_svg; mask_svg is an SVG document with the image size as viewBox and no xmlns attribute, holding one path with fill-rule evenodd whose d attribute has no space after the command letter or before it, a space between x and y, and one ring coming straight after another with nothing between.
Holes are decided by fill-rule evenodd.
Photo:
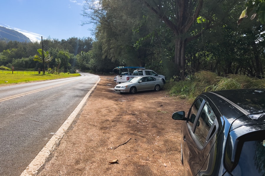
<instances>
[{"instance_id":1,"label":"thick brown lower trunk of the big tree behind the tall grass","mask_svg":"<svg viewBox=\"0 0 265 176\"><path fill-rule=\"evenodd\" d=\"M185 40L177 38L175 42L175 67L176 74L181 80L184 80L185 71Z\"/></svg>"}]
</instances>

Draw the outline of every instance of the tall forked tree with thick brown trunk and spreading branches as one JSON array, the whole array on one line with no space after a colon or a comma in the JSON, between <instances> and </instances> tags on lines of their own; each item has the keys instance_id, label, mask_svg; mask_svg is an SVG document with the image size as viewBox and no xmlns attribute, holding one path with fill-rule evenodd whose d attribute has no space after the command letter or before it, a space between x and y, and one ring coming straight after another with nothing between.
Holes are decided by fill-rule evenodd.
<instances>
[{"instance_id":1,"label":"tall forked tree with thick brown trunk and spreading branches","mask_svg":"<svg viewBox=\"0 0 265 176\"><path fill-rule=\"evenodd\" d=\"M186 44L219 25L235 1L144 0L138 3L145 4L173 31L176 74L184 79ZM201 23L196 22L198 18Z\"/></svg>"}]
</instances>

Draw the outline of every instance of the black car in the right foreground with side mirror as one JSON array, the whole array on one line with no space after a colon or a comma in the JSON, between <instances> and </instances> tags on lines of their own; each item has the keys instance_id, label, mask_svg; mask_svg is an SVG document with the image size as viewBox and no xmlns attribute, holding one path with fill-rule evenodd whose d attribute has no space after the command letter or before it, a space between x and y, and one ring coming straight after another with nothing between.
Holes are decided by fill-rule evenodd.
<instances>
[{"instance_id":1,"label":"black car in the right foreground with side mirror","mask_svg":"<svg viewBox=\"0 0 265 176\"><path fill-rule=\"evenodd\" d=\"M265 175L265 89L205 92L172 118L185 175Z\"/></svg>"}]
</instances>

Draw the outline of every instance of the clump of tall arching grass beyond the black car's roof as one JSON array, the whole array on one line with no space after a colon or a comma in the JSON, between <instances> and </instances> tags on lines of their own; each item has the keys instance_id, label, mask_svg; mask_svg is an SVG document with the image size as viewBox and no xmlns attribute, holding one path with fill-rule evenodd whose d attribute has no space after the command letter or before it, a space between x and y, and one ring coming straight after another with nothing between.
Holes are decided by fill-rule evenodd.
<instances>
[{"instance_id":1,"label":"clump of tall arching grass beyond the black car's roof","mask_svg":"<svg viewBox=\"0 0 265 176\"><path fill-rule=\"evenodd\" d=\"M201 71L191 75L185 81L170 79L165 84L165 89L171 96L177 96L188 101L194 99L203 92L225 89L251 89L265 88L265 79L250 78L244 75L227 75L220 77L216 73Z\"/></svg>"}]
</instances>

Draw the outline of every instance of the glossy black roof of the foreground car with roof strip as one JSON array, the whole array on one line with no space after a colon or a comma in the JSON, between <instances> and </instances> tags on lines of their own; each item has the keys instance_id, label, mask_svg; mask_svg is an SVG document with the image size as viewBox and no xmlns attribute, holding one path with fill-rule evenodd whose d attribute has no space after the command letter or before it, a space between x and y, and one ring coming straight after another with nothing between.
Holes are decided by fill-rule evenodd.
<instances>
[{"instance_id":1,"label":"glossy black roof of the foreground car with roof strip","mask_svg":"<svg viewBox=\"0 0 265 176\"><path fill-rule=\"evenodd\" d=\"M243 115L259 119L265 115L265 89L229 89L203 95L210 98L227 119Z\"/></svg>"}]
</instances>

